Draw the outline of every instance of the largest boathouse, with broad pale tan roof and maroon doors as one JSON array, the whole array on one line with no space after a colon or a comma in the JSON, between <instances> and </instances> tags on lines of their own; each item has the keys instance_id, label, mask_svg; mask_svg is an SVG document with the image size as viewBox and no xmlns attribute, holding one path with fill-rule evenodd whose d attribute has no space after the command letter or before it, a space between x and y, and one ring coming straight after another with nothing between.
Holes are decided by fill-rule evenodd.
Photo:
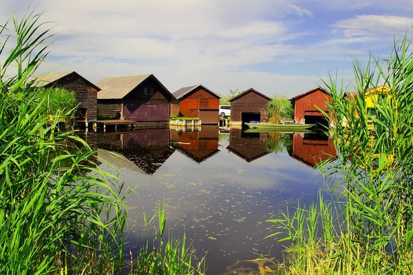
<instances>
[{"instance_id":1,"label":"largest boathouse, with broad pale tan roof and maroon doors","mask_svg":"<svg viewBox=\"0 0 413 275\"><path fill-rule=\"evenodd\" d=\"M98 118L168 122L173 95L153 74L103 78L96 85Z\"/></svg>"}]
</instances>

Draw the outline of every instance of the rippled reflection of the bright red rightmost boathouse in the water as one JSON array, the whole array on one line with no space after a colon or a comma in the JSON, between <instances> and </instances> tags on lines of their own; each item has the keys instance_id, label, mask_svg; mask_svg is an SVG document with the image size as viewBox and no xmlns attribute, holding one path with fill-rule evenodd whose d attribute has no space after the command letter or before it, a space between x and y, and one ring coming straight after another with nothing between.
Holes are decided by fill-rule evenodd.
<instances>
[{"instance_id":1,"label":"rippled reflection of the bright red rightmost boathouse in the water","mask_svg":"<svg viewBox=\"0 0 413 275\"><path fill-rule=\"evenodd\" d=\"M310 167L337 157L332 140L327 135L316 133L294 133L293 146L288 154Z\"/></svg>"}]
</instances>

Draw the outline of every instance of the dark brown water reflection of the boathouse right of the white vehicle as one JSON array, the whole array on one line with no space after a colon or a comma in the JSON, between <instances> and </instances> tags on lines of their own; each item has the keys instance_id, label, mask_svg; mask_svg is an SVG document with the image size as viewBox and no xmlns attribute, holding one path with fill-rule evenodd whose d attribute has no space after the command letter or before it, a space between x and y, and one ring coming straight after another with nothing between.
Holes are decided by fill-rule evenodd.
<instances>
[{"instance_id":1,"label":"dark brown water reflection of the boathouse right of the white vehicle","mask_svg":"<svg viewBox=\"0 0 413 275\"><path fill-rule=\"evenodd\" d=\"M268 154L268 133L245 133L242 129L232 128L229 138L229 146L226 148L246 162Z\"/></svg>"}]
</instances>

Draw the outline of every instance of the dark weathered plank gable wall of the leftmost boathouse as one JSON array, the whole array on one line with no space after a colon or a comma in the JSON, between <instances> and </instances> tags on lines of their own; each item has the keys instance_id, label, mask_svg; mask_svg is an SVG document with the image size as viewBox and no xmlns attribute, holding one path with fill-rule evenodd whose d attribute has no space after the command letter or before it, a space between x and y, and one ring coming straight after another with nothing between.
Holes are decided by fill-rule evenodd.
<instances>
[{"instance_id":1,"label":"dark weathered plank gable wall of the leftmost boathouse","mask_svg":"<svg viewBox=\"0 0 413 275\"><path fill-rule=\"evenodd\" d=\"M87 120L96 120L98 113L98 90L76 73L69 74L45 85L45 88L61 87L67 91L73 91L78 102L78 108L87 108Z\"/></svg>"}]
</instances>

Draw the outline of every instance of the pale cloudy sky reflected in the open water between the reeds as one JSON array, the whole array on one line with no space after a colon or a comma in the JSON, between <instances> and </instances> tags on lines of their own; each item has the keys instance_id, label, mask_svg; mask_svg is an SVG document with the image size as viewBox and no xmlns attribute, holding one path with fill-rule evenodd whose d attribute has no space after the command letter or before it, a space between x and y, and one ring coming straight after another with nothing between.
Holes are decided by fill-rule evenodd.
<instances>
[{"instance_id":1,"label":"pale cloudy sky reflected in the open water between the reeds","mask_svg":"<svg viewBox=\"0 0 413 275\"><path fill-rule=\"evenodd\" d=\"M176 142L173 134L176 133L171 132L171 142ZM293 135L289 137L293 139ZM105 135L98 136L99 143L106 143L103 148L108 148L107 140ZM215 140L215 137L206 140ZM227 149L230 142L236 140L221 139L218 153L200 163L181 151L173 150L177 144L184 146L190 142L171 144L173 153L167 149L169 153L163 164L158 157L155 164L158 169L153 175L119 165L121 179L136 188L136 192L127 198L129 243L126 249L133 248L140 241L142 209L145 208L149 216L155 213L165 195L167 226L171 234L180 236L184 230L193 241L198 256L208 252L207 274L224 272L226 266L237 260L255 259L255 253L271 254L281 259L282 244L275 243L274 239L264 240L269 224L261 222L286 211L287 206L297 206L298 201L316 201L317 192L325 187L324 180L317 175L317 170L290 157L285 149L281 153L269 153L246 162ZM136 148L137 144L131 146ZM123 146L119 153L133 154L131 147ZM248 140L240 146L248 146ZM147 148L140 148L140 154ZM110 149L116 151L116 146ZM137 159L134 159L136 163L145 162L142 157ZM102 166L107 168L105 164Z\"/></svg>"}]
</instances>

